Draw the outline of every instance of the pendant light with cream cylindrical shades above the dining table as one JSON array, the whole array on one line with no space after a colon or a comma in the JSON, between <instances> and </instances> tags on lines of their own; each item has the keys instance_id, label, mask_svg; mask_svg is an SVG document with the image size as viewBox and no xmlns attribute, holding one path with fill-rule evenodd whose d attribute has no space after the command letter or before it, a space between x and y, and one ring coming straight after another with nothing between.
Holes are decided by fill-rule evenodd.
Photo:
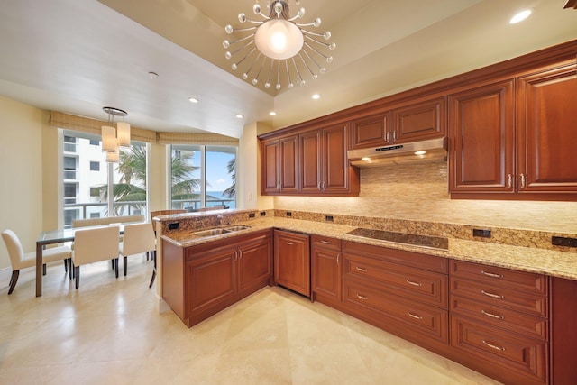
<instances>
[{"instance_id":1,"label":"pendant light with cream cylindrical shades above the dining table","mask_svg":"<svg viewBox=\"0 0 577 385\"><path fill-rule=\"evenodd\" d=\"M124 122L128 115L126 111L114 107L103 107L108 114L107 125L102 126L102 151L106 152L106 161L118 163L120 159L120 147L130 147L130 124ZM114 128L114 116L122 116L123 121Z\"/></svg>"}]
</instances>

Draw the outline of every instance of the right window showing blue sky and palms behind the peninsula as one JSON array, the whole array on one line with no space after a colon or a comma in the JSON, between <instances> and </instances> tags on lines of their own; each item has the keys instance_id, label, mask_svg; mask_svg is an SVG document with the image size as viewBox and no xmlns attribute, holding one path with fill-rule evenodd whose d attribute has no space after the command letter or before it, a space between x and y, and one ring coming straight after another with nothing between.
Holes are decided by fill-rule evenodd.
<instances>
[{"instance_id":1,"label":"right window showing blue sky and palms behind the peninsula","mask_svg":"<svg viewBox=\"0 0 577 385\"><path fill-rule=\"evenodd\" d=\"M236 150L229 146L172 145L172 208L236 208Z\"/></svg>"}]
</instances>

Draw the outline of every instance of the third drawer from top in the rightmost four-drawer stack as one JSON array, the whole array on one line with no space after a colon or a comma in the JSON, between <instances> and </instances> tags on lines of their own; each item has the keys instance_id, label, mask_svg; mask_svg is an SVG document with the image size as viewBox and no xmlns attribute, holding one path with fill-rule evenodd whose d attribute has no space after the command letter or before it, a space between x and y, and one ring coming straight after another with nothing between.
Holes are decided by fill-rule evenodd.
<instances>
[{"instance_id":1,"label":"third drawer from top in the rightmost four-drawer stack","mask_svg":"<svg viewBox=\"0 0 577 385\"><path fill-rule=\"evenodd\" d=\"M497 326L508 331L531 337L548 339L548 321L539 316L529 316L503 307L492 307L469 298L451 297L450 310L470 316L483 325Z\"/></svg>"}]
</instances>

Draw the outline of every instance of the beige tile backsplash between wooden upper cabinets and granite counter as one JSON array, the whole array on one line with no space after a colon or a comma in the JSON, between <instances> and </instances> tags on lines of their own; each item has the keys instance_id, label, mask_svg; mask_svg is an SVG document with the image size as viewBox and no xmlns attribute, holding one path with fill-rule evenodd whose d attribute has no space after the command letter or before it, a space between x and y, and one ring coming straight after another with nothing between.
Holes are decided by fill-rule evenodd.
<instances>
[{"instance_id":1,"label":"beige tile backsplash between wooden upper cabinets and granite counter","mask_svg":"<svg viewBox=\"0 0 577 385\"><path fill-rule=\"evenodd\" d=\"M472 228L508 229L508 239L515 237L515 231L526 239L527 232L521 230L530 230L535 236L545 234L541 236L549 237L549 243L551 233L577 234L577 202L450 199L444 161L362 169L359 197L275 197L274 207L276 215L291 211L298 217L302 212L320 220L333 215L334 223L348 218L368 225L404 227L417 221L433 234L457 231L447 230L453 225L464 233L459 236L463 239L472 237ZM442 229L435 229L438 226ZM495 242L502 233L491 235Z\"/></svg>"}]
</instances>

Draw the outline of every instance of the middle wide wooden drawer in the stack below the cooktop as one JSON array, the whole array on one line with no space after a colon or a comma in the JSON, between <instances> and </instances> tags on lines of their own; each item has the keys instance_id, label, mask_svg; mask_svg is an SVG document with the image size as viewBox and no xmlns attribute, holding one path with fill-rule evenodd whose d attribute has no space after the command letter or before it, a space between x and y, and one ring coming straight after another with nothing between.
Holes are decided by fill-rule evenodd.
<instances>
[{"instance_id":1,"label":"middle wide wooden drawer in the stack below the cooktop","mask_svg":"<svg viewBox=\"0 0 577 385\"><path fill-rule=\"evenodd\" d=\"M343 254L344 277L372 280L394 295L447 308L447 276L354 254Z\"/></svg>"}]
</instances>

